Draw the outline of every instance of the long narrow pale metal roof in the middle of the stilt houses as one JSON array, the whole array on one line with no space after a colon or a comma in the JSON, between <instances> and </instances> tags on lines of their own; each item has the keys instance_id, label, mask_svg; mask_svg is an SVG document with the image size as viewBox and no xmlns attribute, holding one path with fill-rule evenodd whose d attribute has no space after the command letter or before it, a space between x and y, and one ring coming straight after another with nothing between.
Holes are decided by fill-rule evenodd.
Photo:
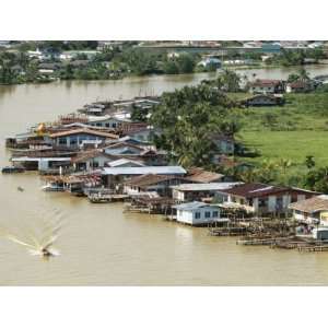
<instances>
[{"instance_id":1,"label":"long narrow pale metal roof in the middle of the stilt houses","mask_svg":"<svg viewBox=\"0 0 328 328\"><path fill-rule=\"evenodd\" d=\"M104 167L102 175L186 174L181 166Z\"/></svg>"}]
</instances>

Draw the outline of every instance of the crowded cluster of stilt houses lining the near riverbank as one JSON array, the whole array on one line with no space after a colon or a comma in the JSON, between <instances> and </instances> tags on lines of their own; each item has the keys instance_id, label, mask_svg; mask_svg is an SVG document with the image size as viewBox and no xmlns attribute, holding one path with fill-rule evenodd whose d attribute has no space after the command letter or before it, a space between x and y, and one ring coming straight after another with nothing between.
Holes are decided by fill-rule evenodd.
<instances>
[{"instance_id":1,"label":"crowded cluster of stilt houses lining the near riverbank","mask_svg":"<svg viewBox=\"0 0 328 328\"><path fill-rule=\"evenodd\" d=\"M38 171L47 181L44 190L77 196L96 192L99 199L115 196L132 200L149 212L167 214L169 208L172 218L191 225L226 222L227 211L251 216L293 214L304 224L328 225L327 196L236 181L218 172L186 169L168 161L166 152L153 143L161 131L131 119L136 106L148 108L159 102L137 97L85 105L80 114L61 116L55 122L8 138L11 162L16 167ZM235 165L227 156L234 154L234 139L213 134L213 140L220 150L216 164Z\"/></svg>"}]
</instances>

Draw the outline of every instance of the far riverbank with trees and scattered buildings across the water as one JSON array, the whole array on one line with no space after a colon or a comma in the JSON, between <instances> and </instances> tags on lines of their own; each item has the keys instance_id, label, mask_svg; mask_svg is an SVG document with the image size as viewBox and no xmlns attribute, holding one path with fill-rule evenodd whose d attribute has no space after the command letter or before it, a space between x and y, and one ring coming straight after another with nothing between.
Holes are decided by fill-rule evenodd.
<instances>
[{"instance_id":1,"label":"far riverbank with trees and scattered buildings across the water","mask_svg":"<svg viewBox=\"0 0 328 328\"><path fill-rule=\"evenodd\" d=\"M222 43L224 45L224 43ZM126 75L183 74L216 71L211 52L142 48L138 42L45 40L12 42L0 49L0 84L55 80L115 80ZM241 44L239 44L241 46ZM209 57L210 56L210 57ZM215 57L215 56L214 56ZM265 58L268 57L268 58ZM259 50L229 49L216 56L223 68L302 66L325 59L323 48L282 50L267 56Z\"/></svg>"}]
</instances>

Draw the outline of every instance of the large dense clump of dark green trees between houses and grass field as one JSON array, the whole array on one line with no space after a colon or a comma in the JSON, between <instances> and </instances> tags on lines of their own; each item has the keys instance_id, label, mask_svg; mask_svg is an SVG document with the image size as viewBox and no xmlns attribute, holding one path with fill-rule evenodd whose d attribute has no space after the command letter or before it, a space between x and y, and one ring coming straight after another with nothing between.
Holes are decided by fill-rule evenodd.
<instances>
[{"instance_id":1,"label":"large dense clump of dark green trees between houses and grass field","mask_svg":"<svg viewBox=\"0 0 328 328\"><path fill-rule=\"evenodd\" d=\"M207 84L164 93L161 104L151 109L150 122L162 130L156 145L186 167L209 167L219 152L212 136L227 122L226 130L236 129L237 124L227 119L232 106L221 91Z\"/></svg>"}]
</instances>

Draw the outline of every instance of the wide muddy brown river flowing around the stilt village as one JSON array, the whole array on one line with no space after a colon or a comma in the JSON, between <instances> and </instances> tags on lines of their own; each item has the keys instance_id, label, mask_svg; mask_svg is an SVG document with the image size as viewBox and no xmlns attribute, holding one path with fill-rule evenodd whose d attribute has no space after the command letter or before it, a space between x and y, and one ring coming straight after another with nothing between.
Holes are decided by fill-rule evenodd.
<instances>
[{"instance_id":1,"label":"wide muddy brown river flowing around the stilt village","mask_svg":"<svg viewBox=\"0 0 328 328\"><path fill-rule=\"evenodd\" d=\"M253 71L245 71L253 74ZM258 71L263 78L290 71ZM243 72L242 72L243 73ZM328 67L313 68L328 73ZM56 82L0 86L0 166L9 163L4 138L54 120L95 99L160 94L215 74L128 78L105 82ZM20 192L17 186L25 190ZM121 203L91 204L67 194L43 192L34 173L0 175L0 226L23 235L44 220L63 219L48 261L0 238L0 285L309 285L328 283L328 254L243 247L206 229L127 213Z\"/></svg>"}]
</instances>

